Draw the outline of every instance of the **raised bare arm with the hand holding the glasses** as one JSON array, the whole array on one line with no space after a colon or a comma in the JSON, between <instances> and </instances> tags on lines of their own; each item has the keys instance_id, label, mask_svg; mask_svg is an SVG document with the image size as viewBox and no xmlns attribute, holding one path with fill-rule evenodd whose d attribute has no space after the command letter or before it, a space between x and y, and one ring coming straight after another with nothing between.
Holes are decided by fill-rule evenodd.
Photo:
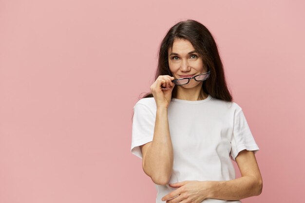
<instances>
[{"instance_id":1,"label":"raised bare arm with the hand holding the glasses","mask_svg":"<svg viewBox=\"0 0 305 203\"><path fill-rule=\"evenodd\" d=\"M172 98L173 79L170 75L159 75L151 86L157 107L153 138L152 142L140 147L143 170L157 185L166 185L172 175L173 152L168 106Z\"/></svg>"}]
</instances>

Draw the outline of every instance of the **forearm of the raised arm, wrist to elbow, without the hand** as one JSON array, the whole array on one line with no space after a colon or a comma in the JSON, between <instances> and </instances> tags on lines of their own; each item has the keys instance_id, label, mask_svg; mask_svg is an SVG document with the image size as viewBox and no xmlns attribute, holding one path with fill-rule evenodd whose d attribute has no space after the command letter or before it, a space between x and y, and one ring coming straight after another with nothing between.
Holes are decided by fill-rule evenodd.
<instances>
[{"instance_id":1,"label":"forearm of the raised arm, wrist to elbow, without the hand","mask_svg":"<svg viewBox=\"0 0 305 203\"><path fill-rule=\"evenodd\" d=\"M172 174L173 152L167 108L157 108L154 134L144 162L153 182L165 185Z\"/></svg>"}]
</instances>

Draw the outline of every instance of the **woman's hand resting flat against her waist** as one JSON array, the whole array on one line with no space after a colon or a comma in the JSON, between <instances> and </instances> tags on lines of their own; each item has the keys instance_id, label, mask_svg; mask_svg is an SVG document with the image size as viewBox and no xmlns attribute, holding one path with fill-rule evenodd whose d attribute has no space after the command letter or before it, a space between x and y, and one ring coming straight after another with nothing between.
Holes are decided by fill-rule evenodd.
<instances>
[{"instance_id":1,"label":"woman's hand resting flat against her waist","mask_svg":"<svg viewBox=\"0 0 305 203\"><path fill-rule=\"evenodd\" d=\"M170 186L178 187L178 189L162 198L162 201L166 203L201 203L209 196L208 181L183 181L170 184Z\"/></svg>"}]
</instances>

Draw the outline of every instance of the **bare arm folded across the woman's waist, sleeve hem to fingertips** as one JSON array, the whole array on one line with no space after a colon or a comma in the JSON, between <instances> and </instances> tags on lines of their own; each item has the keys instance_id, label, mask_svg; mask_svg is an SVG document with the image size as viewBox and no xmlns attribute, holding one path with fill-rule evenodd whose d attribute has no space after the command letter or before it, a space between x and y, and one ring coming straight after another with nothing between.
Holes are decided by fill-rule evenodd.
<instances>
[{"instance_id":1,"label":"bare arm folded across the woman's waist, sleeve hem to fingertips","mask_svg":"<svg viewBox=\"0 0 305 203\"><path fill-rule=\"evenodd\" d=\"M190 200L200 203L207 198L241 200L260 195L263 181L253 151L243 150L239 152L235 160L240 169L241 178L230 181L184 181L170 184L171 187L178 188L164 196L162 201L178 203Z\"/></svg>"}]
</instances>

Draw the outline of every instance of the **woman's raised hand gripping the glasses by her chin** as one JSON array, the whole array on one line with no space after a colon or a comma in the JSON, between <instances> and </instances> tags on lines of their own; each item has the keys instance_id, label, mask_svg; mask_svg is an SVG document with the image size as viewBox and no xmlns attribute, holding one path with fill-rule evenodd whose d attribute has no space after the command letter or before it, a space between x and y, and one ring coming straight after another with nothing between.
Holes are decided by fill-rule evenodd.
<instances>
[{"instance_id":1,"label":"woman's raised hand gripping the glasses by her chin","mask_svg":"<svg viewBox=\"0 0 305 203\"><path fill-rule=\"evenodd\" d=\"M152 95L158 107L167 108L172 99L172 89L175 84L172 82L174 77L170 75L159 75L151 86ZM166 89L161 89L166 88Z\"/></svg>"}]
</instances>

